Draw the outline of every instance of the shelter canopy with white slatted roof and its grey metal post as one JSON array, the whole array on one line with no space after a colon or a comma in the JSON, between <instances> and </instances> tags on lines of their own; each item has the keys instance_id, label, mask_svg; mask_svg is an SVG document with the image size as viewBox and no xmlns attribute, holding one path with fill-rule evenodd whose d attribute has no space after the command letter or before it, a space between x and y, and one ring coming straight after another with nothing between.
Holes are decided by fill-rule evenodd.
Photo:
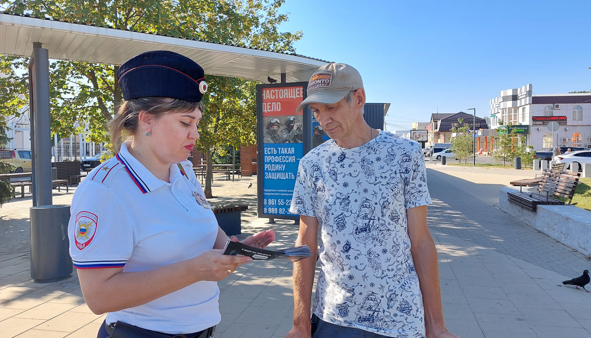
<instances>
[{"instance_id":1,"label":"shelter canopy with white slatted roof and its grey metal post","mask_svg":"<svg viewBox=\"0 0 591 338\"><path fill-rule=\"evenodd\" d=\"M215 42L0 13L0 54L31 57L29 93L33 206L51 205L49 59L121 65L145 51L178 52L208 75L267 82L308 81L327 61Z\"/></svg>"}]
</instances>

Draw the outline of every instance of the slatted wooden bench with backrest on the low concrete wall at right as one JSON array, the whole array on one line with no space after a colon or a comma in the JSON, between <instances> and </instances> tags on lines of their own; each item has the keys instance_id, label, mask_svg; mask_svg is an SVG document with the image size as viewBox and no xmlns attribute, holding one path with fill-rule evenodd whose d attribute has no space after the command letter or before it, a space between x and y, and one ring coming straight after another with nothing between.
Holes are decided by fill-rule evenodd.
<instances>
[{"instance_id":1,"label":"slatted wooden bench with backrest on the low concrete wall at right","mask_svg":"<svg viewBox=\"0 0 591 338\"><path fill-rule=\"evenodd\" d=\"M579 183L580 173L564 172L560 170L545 170L540 176L538 193L524 192L522 189L508 192L509 202L518 204L523 208L537 211L538 205L564 205L563 201L551 198L560 196L570 202L573 200L574 191Z\"/></svg>"}]
</instances>

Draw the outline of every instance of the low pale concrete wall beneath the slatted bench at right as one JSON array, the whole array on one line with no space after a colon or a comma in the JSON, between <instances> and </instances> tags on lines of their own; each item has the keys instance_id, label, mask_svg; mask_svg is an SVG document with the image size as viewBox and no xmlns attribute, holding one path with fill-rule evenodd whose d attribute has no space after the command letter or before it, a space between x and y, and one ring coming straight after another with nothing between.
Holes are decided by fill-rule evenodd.
<instances>
[{"instance_id":1,"label":"low pale concrete wall beneath the slatted bench at right","mask_svg":"<svg viewBox=\"0 0 591 338\"><path fill-rule=\"evenodd\" d=\"M573 205L538 205L538 212L521 208L508 201L508 191L519 188L505 187L499 195L499 208L517 217L564 245L591 254L591 211Z\"/></svg>"}]
</instances>

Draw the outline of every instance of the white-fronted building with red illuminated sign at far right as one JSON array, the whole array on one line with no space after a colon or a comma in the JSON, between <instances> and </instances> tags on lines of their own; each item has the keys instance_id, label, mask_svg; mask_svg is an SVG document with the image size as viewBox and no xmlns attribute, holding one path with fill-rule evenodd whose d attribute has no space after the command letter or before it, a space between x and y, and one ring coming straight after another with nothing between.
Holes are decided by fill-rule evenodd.
<instances>
[{"instance_id":1,"label":"white-fronted building with red illuminated sign at far right","mask_svg":"<svg viewBox=\"0 0 591 338\"><path fill-rule=\"evenodd\" d=\"M537 94L532 85L503 90L490 101L491 128L502 124L529 126L526 145L591 148L591 93ZM557 122L558 130L548 129Z\"/></svg>"}]
</instances>

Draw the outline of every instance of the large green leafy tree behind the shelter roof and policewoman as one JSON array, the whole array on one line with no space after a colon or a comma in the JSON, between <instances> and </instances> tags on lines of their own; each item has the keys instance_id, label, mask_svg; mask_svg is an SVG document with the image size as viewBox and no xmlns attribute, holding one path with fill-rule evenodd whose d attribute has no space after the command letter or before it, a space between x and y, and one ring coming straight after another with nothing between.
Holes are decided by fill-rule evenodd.
<instances>
[{"instance_id":1,"label":"large green leafy tree behind the shelter roof and policewoman","mask_svg":"<svg viewBox=\"0 0 591 338\"><path fill-rule=\"evenodd\" d=\"M28 14L56 20L68 20L116 29L171 35L252 48L295 52L293 42L301 31L282 32L280 25L288 20L279 12L285 0L0 0L0 9L15 14ZM0 115L15 114L28 104L28 58L0 56ZM87 125L87 140L108 143L106 123L122 101L121 89L115 82L116 65L89 64L76 61L51 61L50 104L51 131L60 137L81 132ZM202 137L197 148L212 153L224 145L238 146L254 142L255 109L252 100L254 83L241 79L206 77L210 92ZM216 85L216 81L219 84ZM239 90L230 90L229 86ZM234 96L228 96L234 95ZM210 104L210 107L207 105ZM210 111L210 108L212 109ZM236 109L240 110L236 110ZM240 122L245 109L251 109L252 122ZM244 112L244 114L242 114ZM232 117L236 113L240 118ZM216 115L217 114L217 115ZM225 116L220 119L217 116ZM79 122L79 124L76 124ZM252 129L246 129L249 126ZM223 134L215 136L217 134ZM210 140L208 137L213 137ZM221 147L220 147L221 146ZM208 166L211 161L208 161ZM208 167L208 172L211 168ZM210 192L211 175L206 179ZM208 188L209 187L209 188ZM209 193L210 195L210 193Z\"/></svg>"}]
</instances>

